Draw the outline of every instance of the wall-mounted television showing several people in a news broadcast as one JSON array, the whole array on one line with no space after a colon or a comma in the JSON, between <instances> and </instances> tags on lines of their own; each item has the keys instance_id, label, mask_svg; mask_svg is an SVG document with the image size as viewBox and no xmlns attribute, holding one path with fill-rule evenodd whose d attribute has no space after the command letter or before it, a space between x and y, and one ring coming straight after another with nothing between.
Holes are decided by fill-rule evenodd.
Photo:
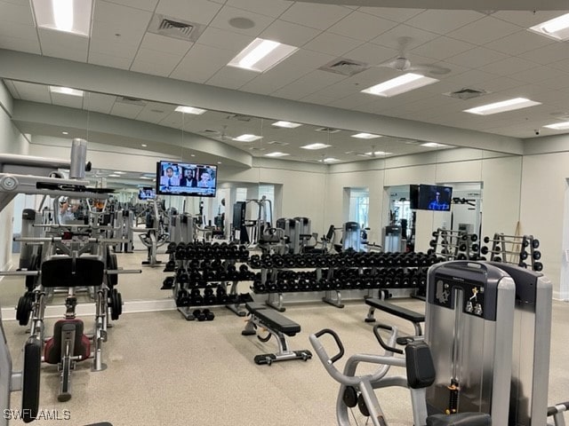
<instances>
[{"instance_id":1,"label":"wall-mounted television showing several people in a news broadcast","mask_svg":"<svg viewBox=\"0 0 569 426\"><path fill-rule=\"evenodd\" d=\"M187 197L214 197L217 166L188 162L158 162L156 193Z\"/></svg>"}]
</instances>

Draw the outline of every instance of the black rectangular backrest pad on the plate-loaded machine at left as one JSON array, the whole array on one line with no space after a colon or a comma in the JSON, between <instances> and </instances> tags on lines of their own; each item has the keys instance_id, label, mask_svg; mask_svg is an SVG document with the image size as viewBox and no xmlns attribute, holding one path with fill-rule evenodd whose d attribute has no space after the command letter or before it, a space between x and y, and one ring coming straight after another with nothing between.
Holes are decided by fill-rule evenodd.
<instances>
[{"instance_id":1,"label":"black rectangular backrest pad on the plate-loaded machine at left","mask_svg":"<svg viewBox=\"0 0 569 426\"><path fill-rule=\"evenodd\" d=\"M98 287L103 282L104 272L105 264L99 258L55 257L42 262L42 285Z\"/></svg>"}]
</instances>

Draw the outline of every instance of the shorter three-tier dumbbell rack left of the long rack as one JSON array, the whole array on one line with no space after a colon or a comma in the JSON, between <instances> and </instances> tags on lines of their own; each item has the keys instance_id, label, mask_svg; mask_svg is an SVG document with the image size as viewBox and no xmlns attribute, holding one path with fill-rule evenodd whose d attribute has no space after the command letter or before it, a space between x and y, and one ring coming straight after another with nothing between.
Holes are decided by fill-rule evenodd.
<instances>
[{"instance_id":1,"label":"shorter three-tier dumbbell rack left of the long rack","mask_svg":"<svg viewBox=\"0 0 569 426\"><path fill-rule=\"evenodd\" d=\"M225 243L221 243L225 244ZM246 262L249 252L240 247L234 250L209 250L192 248L236 248L236 245L221 245L213 242L212 244L197 243L195 246L188 244L180 249L169 247L167 252L173 258L174 264L169 262L164 272L175 272L173 277L164 280L162 289L172 289L173 298L176 301L178 311L187 320L196 319L192 313L192 307L202 306L226 306L236 315L243 317L246 312L239 308L239 305L252 302L249 294L238 294L237 285L242 280L251 280L252 272L248 271L246 265L236 269L237 262ZM220 257L225 256L225 257ZM217 262L215 269L210 267L213 262ZM231 288L228 291L228 282ZM212 283L218 283L216 288Z\"/></svg>"}]
</instances>

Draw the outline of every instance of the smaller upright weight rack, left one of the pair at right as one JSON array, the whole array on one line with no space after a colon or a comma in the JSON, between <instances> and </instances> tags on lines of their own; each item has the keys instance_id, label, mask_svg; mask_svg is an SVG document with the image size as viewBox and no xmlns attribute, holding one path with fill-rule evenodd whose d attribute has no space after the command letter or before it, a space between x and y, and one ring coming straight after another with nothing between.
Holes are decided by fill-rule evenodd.
<instances>
[{"instance_id":1,"label":"smaller upright weight rack, left one of the pair at right","mask_svg":"<svg viewBox=\"0 0 569 426\"><path fill-rule=\"evenodd\" d=\"M433 232L429 241L429 252L449 260L477 260L479 258L478 236L476 233L464 233L444 228Z\"/></svg>"}]
</instances>

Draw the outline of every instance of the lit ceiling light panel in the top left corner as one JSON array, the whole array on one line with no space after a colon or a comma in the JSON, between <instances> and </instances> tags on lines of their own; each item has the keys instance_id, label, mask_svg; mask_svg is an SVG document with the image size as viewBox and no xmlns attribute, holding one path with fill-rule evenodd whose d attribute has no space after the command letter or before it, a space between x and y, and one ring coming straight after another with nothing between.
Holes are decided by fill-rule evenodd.
<instances>
[{"instance_id":1,"label":"lit ceiling light panel in the top left corner","mask_svg":"<svg viewBox=\"0 0 569 426\"><path fill-rule=\"evenodd\" d=\"M92 0L32 0L39 28L91 36Z\"/></svg>"}]
</instances>

